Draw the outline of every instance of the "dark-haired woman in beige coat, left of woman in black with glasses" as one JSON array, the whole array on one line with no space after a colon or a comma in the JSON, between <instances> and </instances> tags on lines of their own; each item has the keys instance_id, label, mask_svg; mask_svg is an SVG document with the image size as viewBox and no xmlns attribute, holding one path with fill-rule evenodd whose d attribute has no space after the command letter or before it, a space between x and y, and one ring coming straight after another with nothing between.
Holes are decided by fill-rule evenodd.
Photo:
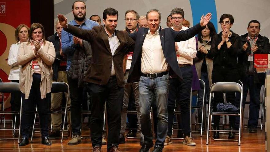
<instances>
[{"instance_id":1,"label":"dark-haired woman in beige coat, left of woman in black with glasses","mask_svg":"<svg viewBox=\"0 0 270 152\"><path fill-rule=\"evenodd\" d=\"M213 69L213 57L208 53L211 48L211 38L216 35L216 29L212 22L208 22L206 28L198 34L198 53L195 61L195 67L199 79L203 80L206 84L205 100L209 101L209 88L212 85L212 69ZM203 107L203 90L198 91L198 107ZM199 110L199 122L202 121L202 110ZM204 125L203 125L204 130ZM201 127L199 127L201 131Z\"/></svg>"}]
</instances>

